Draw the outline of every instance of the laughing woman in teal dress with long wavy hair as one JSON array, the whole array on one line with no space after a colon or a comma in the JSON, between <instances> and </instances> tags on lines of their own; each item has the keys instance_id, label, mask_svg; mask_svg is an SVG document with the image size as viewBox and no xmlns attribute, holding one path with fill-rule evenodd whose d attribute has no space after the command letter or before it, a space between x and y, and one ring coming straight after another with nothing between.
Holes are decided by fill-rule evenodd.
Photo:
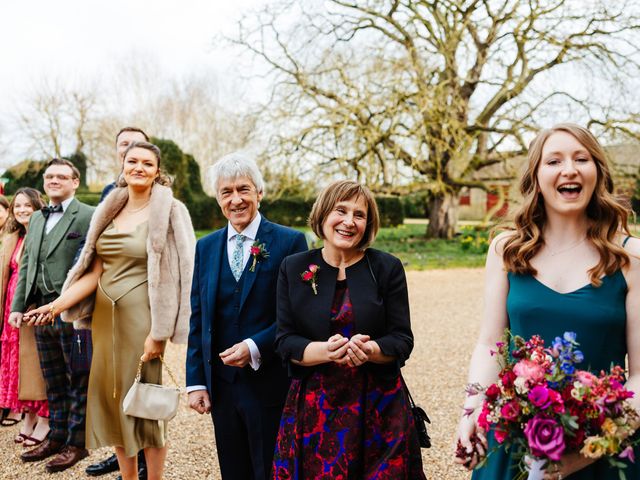
<instances>
[{"instance_id":1,"label":"laughing woman in teal dress with long wavy hair","mask_svg":"<svg viewBox=\"0 0 640 480\"><path fill-rule=\"evenodd\" d=\"M543 130L529 149L520 182L523 205L515 229L498 235L487 255L485 306L469 382L488 386L499 371L491 350L505 328L550 344L565 331L577 334L581 368L608 370L628 360L627 388L640 410L640 240L629 236L629 211L613 195L606 154L587 129L560 124ZM470 454L469 468L485 452L473 480L511 480L516 462L493 435L477 426L482 396L467 398L458 438ZM480 442L473 445L476 433ZM640 450L636 448L636 457ZM457 460L462 463L462 460ZM628 479L640 465L627 463ZM605 459L567 453L545 480L614 480Z\"/></svg>"}]
</instances>

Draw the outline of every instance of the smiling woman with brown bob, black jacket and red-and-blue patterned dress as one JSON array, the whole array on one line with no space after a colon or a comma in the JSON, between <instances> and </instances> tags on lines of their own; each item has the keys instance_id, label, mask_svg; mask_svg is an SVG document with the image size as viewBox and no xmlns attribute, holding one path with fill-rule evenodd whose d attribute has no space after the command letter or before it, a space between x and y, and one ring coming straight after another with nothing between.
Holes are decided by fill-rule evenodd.
<instances>
[{"instance_id":1,"label":"smiling woman with brown bob, black jacket and red-and-blue patterned dress","mask_svg":"<svg viewBox=\"0 0 640 480\"><path fill-rule=\"evenodd\" d=\"M335 182L309 223L323 248L287 257L278 277L276 350L293 381L271 478L424 479L400 376L413 349L407 283L400 260L369 248L375 199Z\"/></svg>"}]
</instances>

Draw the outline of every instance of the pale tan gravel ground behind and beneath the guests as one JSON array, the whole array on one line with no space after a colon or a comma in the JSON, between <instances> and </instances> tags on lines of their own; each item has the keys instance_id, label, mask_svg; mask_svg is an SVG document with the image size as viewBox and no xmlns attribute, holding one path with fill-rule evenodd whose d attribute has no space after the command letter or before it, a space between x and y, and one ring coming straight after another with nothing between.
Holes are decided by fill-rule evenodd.
<instances>
[{"instance_id":1,"label":"pale tan gravel ground behind and beneath the guests","mask_svg":"<svg viewBox=\"0 0 640 480\"><path fill-rule=\"evenodd\" d=\"M429 480L466 480L469 475L453 464L452 444L463 401L467 363L474 345L482 308L481 269L408 272L415 349L403 369L416 402L431 417L433 447L422 450ZM184 383L184 346L170 345L167 359ZM90 478L87 465L110 455L110 449L91 456L63 473L48 475L43 462L22 463L21 447L13 443L18 427L0 428L0 478L56 480ZM190 412L182 402L169 424L166 479L214 480L220 474L210 417ZM243 461L243 459L238 459ZM99 477L115 479L116 474Z\"/></svg>"}]
</instances>

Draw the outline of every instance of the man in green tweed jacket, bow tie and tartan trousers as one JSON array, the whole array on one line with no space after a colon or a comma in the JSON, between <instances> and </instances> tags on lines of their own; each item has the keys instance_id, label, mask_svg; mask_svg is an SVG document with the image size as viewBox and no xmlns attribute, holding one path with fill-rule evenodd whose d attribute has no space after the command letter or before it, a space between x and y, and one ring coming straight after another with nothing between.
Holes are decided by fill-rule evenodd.
<instances>
[{"instance_id":1,"label":"man in green tweed jacket, bow tie and tartan trousers","mask_svg":"<svg viewBox=\"0 0 640 480\"><path fill-rule=\"evenodd\" d=\"M93 214L92 207L74 198L79 185L80 172L71 162L53 159L47 164L44 190L49 205L31 216L11 305L9 323L13 326L22 323L28 306L45 305L60 295ZM88 455L84 430L91 338L87 331L76 332L59 317L51 325L34 328L51 431L43 443L21 458L34 462L56 455L46 469L59 472Z\"/></svg>"}]
</instances>

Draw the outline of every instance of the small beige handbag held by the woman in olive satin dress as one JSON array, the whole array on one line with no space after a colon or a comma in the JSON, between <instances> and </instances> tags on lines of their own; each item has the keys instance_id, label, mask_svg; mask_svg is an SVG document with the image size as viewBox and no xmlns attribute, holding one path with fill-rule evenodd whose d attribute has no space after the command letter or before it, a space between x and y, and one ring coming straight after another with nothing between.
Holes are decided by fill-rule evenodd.
<instances>
[{"instance_id":1,"label":"small beige handbag held by the woman in olive satin dress","mask_svg":"<svg viewBox=\"0 0 640 480\"><path fill-rule=\"evenodd\" d=\"M142 383L140 381L142 361L140 361L136 379L122 401L122 408L126 415L163 421L169 421L176 416L178 405L180 404L181 389L178 387L171 370L169 370L169 366L164 362L162 356L160 361L167 370L175 387Z\"/></svg>"}]
</instances>

